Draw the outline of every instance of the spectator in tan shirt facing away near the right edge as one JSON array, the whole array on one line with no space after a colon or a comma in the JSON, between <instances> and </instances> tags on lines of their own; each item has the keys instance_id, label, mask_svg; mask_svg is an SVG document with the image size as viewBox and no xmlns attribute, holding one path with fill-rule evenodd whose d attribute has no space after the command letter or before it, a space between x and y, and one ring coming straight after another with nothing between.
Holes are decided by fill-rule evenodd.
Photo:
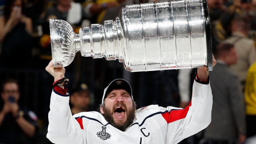
<instances>
[{"instance_id":1,"label":"spectator in tan shirt facing away near the right edge","mask_svg":"<svg viewBox=\"0 0 256 144\"><path fill-rule=\"evenodd\" d=\"M224 41L235 45L238 61L230 66L230 69L238 76L242 90L244 89L247 70L256 61L254 42L247 38L249 30L250 21L247 17L239 17L232 23L232 36Z\"/></svg>"}]
</instances>

